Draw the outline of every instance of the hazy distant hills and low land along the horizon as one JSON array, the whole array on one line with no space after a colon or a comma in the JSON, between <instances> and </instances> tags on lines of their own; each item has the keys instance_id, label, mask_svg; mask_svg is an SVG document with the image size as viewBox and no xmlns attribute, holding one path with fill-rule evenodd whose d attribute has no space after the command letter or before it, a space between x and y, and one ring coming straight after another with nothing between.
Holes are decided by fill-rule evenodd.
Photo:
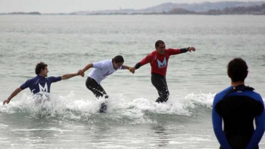
<instances>
[{"instance_id":1,"label":"hazy distant hills and low land along the horizon","mask_svg":"<svg viewBox=\"0 0 265 149\"><path fill-rule=\"evenodd\" d=\"M2 14L33 14L39 12L12 12ZM265 1L258 2L203 2L193 4L163 3L145 9L120 9L101 11L76 11L57 15L101 15L101 14L262 14L265 15ZM54 14L46 14L54 15Z\"/></svg>"}]
</instances>

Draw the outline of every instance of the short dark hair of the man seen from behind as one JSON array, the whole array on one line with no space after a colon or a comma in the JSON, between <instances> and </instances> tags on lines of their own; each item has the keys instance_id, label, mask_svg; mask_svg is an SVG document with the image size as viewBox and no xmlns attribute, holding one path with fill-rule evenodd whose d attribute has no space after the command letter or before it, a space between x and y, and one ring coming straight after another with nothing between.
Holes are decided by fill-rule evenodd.
<instances>
[{"instance_id":1,"label":"short dark hair of the man seen from behind","mask_svg":"<svg viewBox=\"0 0 265 149\"><path fill-rule=\"evenodd\" d=\"M227 65L227 74L232 82L244 82L248 76L248 65L242 58L234 58Z\"/></svg>"}]
</instances>

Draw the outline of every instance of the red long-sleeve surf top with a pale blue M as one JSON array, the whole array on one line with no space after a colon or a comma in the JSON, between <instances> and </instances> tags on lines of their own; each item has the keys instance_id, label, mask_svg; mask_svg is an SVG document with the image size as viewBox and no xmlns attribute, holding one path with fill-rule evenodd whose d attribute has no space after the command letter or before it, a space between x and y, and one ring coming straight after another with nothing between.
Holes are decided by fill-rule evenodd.
<instances>
[{"instance_id":1,"label":"red long-sleeve surf top with a pale blue M","mask_svg":"<svg viewBox=\"0 0 265 149\"><path fill-rule=\"evenodd\" d=\"M148 54L144 59L140 61L141 66L150 63L151 73L157 73L161 76L167 74L167 64L170 55L180 54L180 49L166 49L164 54L158 54L157 51L153 51Z\"/></svg>"}]
</instances>

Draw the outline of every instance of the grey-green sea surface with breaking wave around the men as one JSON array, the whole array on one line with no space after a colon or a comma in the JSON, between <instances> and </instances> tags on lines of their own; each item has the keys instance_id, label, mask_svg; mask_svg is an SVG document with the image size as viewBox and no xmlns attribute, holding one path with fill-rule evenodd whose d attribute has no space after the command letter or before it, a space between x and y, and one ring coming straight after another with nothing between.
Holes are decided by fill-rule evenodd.
<instances>
[{"instance_id":1,"label":"grey-green sea surface with breaking wave around the men","mask_svg":"<svg viewBox=\"0 0 265 149\"><path fill-rule=\"evenodd\" d=\"M0 148L214 149L214 95L230 86L226 66L235 57L249 67L245 84L265 97L265 16L253 15L0 15L0 101L48 64L48 76L122 55L134 66L163 40L173 55L167 68L170 99L157 104L150 65L118 70L101 82L108 113L98 109L76 76L51 85L50 102L36 104L27 88L0 104ZM265 148L265 139L259 144Z\"/></svg>"}]
</instances>

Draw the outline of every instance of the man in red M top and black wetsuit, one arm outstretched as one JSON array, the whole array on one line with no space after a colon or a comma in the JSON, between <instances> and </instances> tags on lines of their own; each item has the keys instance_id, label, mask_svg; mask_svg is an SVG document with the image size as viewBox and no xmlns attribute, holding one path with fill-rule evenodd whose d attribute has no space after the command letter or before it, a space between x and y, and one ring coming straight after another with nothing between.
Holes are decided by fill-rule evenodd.
<instances>
[{"instance_id":1,"label":"man in red M top and black wetsuit, one arm outstretched","mask_svg":"<svg viewBox=\"0 0 265 149\"><path fill-rule=\"evenodd\" d=\"M165 43L162 40L158 40L155 43L155 51L148 54L144 59L135 65L134 70L139 67L150 63L151 65L151 82L157 89L159 97L156 102L166 102L169 97L169 91L167 88L166 73L167 64L170 55L176 55L186 53L187 51L195 51L194 47L181 48L181 49L166 49Z\"/></svg>"}]
</instances>

